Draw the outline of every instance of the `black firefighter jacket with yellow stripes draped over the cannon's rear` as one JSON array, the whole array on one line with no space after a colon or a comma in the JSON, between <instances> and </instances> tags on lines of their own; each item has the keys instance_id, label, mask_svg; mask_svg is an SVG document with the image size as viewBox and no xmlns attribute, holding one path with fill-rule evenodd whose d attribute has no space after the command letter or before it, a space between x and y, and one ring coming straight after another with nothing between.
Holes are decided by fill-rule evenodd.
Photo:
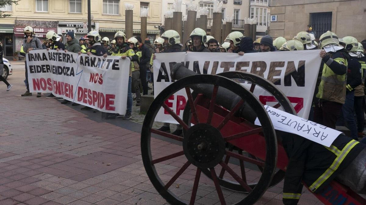
<instances>
[{"instance_id":1,"label":"black firefighter jacket with yellow stripes draped over the cannon's rear","mask_svg":"<svg viewBox=\"0 0 366 205\"><path fill-rule=\"evenodd\" d=\"M298 203L302 182L311 192L321 192L366 149L366 144L345 135L339 135L330 147L325 147L296 134L282 131L276 133L281 136L289 158L283 185L282 201L285 205Z\"/></svg>"}]
</instances>

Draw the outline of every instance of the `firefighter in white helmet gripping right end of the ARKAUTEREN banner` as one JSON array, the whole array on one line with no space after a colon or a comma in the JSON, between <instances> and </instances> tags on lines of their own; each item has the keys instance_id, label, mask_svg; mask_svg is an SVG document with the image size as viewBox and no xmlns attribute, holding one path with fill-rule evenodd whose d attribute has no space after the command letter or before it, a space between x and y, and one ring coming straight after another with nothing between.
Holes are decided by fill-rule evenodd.
<instances>
[{"instance_id":1,"label":"firefighter in white helmet gripping right end of the ARKAUTEREN banner","mask_svg":"<svg viewBox=\"0 0 366 205\"><path fill-rule=\"evenodd\" d=\"M335 33L327 31L320 36L322 62L315 88L313 121L335 129L342 105L346 100L348 54L339 46Z\"/></svg>"}]
</instances>

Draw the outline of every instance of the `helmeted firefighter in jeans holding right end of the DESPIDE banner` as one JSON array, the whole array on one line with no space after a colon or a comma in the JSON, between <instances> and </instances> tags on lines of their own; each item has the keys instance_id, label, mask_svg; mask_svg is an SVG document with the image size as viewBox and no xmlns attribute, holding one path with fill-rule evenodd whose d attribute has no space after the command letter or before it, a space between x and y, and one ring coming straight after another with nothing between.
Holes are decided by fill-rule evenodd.
<instances>
[{"instance_id":1,"label":"helmeted firefighter in jeans holding right end of the DESPIDE banner","mask_svg":"<svg viewBox=\"0 0 366 205\"><path fill-rule=\"evenodd\" d=\"M130 58L131 61L138 61L138 56L135 54L134 50L130 48L130 46L126 43L126 34L122 31L117 31L115 34L116 40L116 50L113 51L112 55L120 56L121 58ZM128 79L128 93L127 93L127 112L124 115L123 119L130 119L132 112L132 93L131 93L131 85L132 85L132 70L130 68L130 77ZM118 115L119 117L122 115Z\"/></svg>"}]
</instances>

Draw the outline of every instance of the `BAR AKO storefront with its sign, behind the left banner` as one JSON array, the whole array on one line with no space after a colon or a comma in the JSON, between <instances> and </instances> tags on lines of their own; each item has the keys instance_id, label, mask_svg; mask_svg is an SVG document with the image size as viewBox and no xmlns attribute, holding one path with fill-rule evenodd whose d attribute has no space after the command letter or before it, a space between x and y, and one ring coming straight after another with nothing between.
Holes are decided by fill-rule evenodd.
<instances>
[{"instance_id":1,"label":"BAR AKO storefront with its sign, behind the left banner","mask_svg":"<svg viewBox=\"0 0 366 205\"><path fill-rule=\"evenodd\" d=\"M95 29L95 24L91 23L91 29ZM57 33L66 35L67 32L74 32L75 38L80 39L88 33L87 28L83 28L83 22L59 22ZM63 43L66 43L66 38L63 38Z\"/></svg>"}]
</instances>

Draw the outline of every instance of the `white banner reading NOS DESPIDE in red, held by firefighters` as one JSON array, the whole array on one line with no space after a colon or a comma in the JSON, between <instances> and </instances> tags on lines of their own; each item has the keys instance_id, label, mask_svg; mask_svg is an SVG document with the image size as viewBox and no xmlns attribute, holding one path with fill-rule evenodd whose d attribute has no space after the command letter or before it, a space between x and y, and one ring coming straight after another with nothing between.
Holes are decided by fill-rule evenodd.
<instances>
[{"instance_id":1,"label":"white banner reading NOS DESPIDE in red, held by firefighters","mask_svg":"<svg viewBox=\"0 0 366 205\"><path fill-rule=\"evenodd\" d=\"M32 50L26 59L30 92L52 92L102 112L125 114L129 58Z\"/></svg>"}]
</instances>

